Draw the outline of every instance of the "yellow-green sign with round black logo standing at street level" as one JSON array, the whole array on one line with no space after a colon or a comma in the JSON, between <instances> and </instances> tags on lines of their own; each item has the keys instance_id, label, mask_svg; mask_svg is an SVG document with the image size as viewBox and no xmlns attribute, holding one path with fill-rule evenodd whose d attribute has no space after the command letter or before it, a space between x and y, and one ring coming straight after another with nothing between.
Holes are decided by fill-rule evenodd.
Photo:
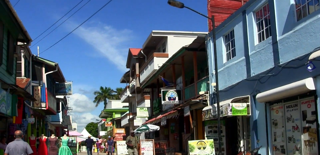
<instances>
[{"instance_id":1,"label":"yellow-green sign with round black logo standing at street level","mask_svg":"<svg viewBox=\"0 0 320 155\"><path fill-rule=\"evenodd\" d=\"M190 155L215 155L213 139L188 141Z\"/></svg>"}]
</instances>

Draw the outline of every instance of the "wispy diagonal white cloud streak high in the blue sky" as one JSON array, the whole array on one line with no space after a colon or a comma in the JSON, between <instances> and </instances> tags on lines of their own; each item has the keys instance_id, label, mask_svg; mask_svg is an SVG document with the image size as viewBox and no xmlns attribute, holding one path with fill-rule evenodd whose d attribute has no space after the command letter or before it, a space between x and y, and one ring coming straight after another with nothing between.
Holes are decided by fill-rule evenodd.
<instances>
[{"instance_id":1,"label":"wispy diagonal white cloud streak high in the blue sky","mask_svg":"<svg viewBox=\"0 0 320 155\"><path fill-rule=\"evenodd\" d=\"M126 64L129 47L125 46L131 40L132 31L118 30L98 22L91 22L90 25L94 26L81 26L74 34L99 51L119 70L127 71L124 64ZM77 25L70 23L69 26L75 28Z\"/></svg>"}]
</instances>

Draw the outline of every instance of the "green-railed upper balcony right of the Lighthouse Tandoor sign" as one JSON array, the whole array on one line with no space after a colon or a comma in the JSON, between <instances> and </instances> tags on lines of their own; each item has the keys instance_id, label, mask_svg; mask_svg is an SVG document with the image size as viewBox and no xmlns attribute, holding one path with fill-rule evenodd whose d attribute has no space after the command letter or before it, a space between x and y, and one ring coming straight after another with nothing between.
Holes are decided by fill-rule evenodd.
<instances>
[{"instance_id":1,"label":"green-railed upper balcony right of the Lighthouse Tandoor sign","mask_svg":"<svg viewBox=\"0 0 320 155\"><path fill-rule=\"evenodd\" d=\"M198 80L196 84L191 84L184 88L184 99L189 100L195 98L200 95L199 92L208 92L209 89L209 76L206 76Z\"/></svg>"}]
</instances>

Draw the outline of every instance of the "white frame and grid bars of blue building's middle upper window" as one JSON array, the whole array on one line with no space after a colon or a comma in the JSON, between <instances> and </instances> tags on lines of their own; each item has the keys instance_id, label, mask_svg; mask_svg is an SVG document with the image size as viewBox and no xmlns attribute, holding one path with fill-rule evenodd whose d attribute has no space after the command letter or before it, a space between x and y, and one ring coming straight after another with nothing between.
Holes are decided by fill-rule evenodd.
<instances>
[{"instance_id":1,"label":"white frame and grid bars of blue building's middle upper window","mask_svg":"<svg viewBox=\"0 0 320 155\"><path fill-rule=\"evenodd\" d=\"M267 5L269 5L269 3L266 3L266 4L264 4L263 6L261 6L257 11L255 11L254 12L254 17L255 17L255 25L256 25L256 36L257 36L257 44L259 44L260 42L262 42L262 41L265 41L266 39L268 39L268 38L270 38L272 35L271 35L271 24L270 23L268 23L268 26L266 26L266 23L265 23L265 20L264 20L264 18L265 17L268 17L269 16L269 18L270 18L270 11L269 11L269 14L267 14L267 15L265 15L264 14L264 11L263 11L263 7L265 7L265 6L267 6ZM267 9L268 9L268 7L267 7ZM257 13L258 12L260 12L262 10L262 19L259 19L259 21L257 21ZM267 12L268 12L267 11ZM263 21L263 30L260 30L260 31L258 31L258 29L259 29L259 26L258 26L258 23L259 22L261 22L261 21ZM269 37L268 38L266 38L266 29L269 29L269 27L270 27L270 30L269 30ZM262 38L262 35L261 35L261 41L259 42L259 33L263 33L264 34L264 37Z\"/></svg>"}]
</instances>

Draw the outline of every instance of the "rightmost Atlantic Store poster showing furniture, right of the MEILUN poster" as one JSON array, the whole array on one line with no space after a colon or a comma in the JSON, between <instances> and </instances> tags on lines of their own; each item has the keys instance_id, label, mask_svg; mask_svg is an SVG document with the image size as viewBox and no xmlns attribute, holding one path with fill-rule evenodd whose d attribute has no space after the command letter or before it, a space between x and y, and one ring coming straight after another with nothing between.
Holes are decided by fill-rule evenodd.
<instances>
[{"instance_id":1,"label":"rightmost Atlantic Store poster showing furniture, right of the MEILUN poster","mask_svg":"<svg viewBox=\"0 0 320 155\"><path fill-rule=\"evenodd\" d=\"M316 130L316 108L315 100L308 99L300 101L302 118L302 144L303 154L317 155L317 130Z\"/></svg>"}]
</instances>

